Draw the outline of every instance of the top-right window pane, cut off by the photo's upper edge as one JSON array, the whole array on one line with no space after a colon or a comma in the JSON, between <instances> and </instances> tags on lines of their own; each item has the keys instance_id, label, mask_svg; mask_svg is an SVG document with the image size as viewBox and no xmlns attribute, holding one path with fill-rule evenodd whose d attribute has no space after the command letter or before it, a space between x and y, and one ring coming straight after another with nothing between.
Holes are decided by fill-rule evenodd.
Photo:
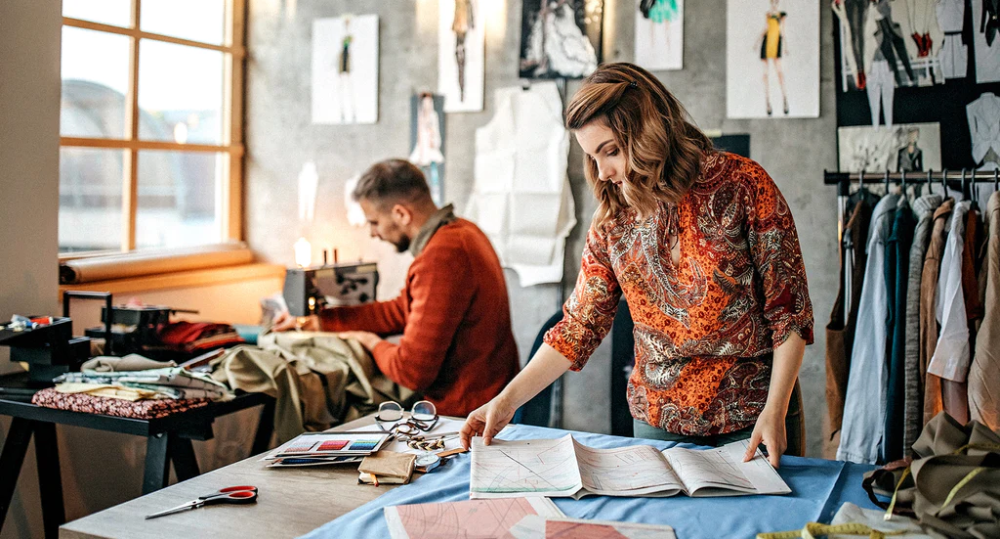
<instances>
[{"instance_id":1,"label":"top-right window pane, cut off by the photo's upper edge","mask_svg":"<svg viewBox=\"0 0 1000 539\"><path fill-rule=\"evenodd\" d=\"M139 28L144 32L222 45L224 0L142 0Z\"/></svg>"}]
</instances>

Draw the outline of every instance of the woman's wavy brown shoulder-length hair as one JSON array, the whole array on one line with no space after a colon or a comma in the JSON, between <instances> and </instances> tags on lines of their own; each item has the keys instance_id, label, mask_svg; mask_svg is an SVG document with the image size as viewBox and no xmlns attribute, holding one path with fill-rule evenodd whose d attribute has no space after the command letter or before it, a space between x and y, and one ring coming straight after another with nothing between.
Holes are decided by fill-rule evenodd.
<instances>
[{"instance_id":1,"label":"woman's wavy brown shoulder-length hair","mask_svg":"<svg viewBox=\"0 0 1000 539\"><path fill-rule=\"evenodd\" d=\"M620 186L598 178L597 163L584 156L587 181L594 190L598 226L623 209L652 215L661 202L676 202L701 170L712 142L691 123L684 106L648 71L633 64L606 64L583 82L566 107L566 128L593 121L611 128L625 152Z\"/></svg>"}]
</instances>

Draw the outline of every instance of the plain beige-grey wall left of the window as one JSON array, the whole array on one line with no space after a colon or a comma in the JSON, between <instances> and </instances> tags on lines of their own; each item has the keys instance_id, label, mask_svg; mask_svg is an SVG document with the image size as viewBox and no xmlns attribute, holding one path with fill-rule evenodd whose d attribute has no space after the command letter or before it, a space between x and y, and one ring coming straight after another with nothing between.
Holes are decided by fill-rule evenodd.
<instances>
[{"instance_id":1,"label":"plain beige-grey wall left of the window","mask_svg":"<svg viewBox=\"0 0 1000 539\"><path fill-rule=\"evenodd\" d=\"M44 313L58 293L61 22L59 2L0 2L0 320ZM11 368L0 348L0 373ZM0 443L9 428L0 418ZM24 465L2 537L42 534L33 446Z\"/></svg>"}]
</instances>

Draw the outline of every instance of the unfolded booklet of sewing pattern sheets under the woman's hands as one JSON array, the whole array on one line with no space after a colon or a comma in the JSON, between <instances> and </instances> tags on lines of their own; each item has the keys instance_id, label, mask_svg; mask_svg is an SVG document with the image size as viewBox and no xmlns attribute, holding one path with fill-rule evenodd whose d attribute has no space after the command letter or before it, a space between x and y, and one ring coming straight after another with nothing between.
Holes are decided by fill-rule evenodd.
<instances>
[{"instance_id":1,"label":"unfolded booklet of sewing pattern sheets under the woman's hands","mask_svg":"<svg viewBox=\"0 0 1000 539\"><path fill-rule=\"evenodd\" d=\"M735 496L791 489L749 440L706 450L648 445L594 449L569 434L554 440L472 441L470 497Z\"/></svg>"}]
</instances>

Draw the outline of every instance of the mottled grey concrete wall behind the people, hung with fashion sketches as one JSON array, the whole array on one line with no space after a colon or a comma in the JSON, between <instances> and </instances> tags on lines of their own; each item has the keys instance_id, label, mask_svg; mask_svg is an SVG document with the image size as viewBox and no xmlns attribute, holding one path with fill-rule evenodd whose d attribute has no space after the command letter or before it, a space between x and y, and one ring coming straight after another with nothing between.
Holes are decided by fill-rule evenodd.
<instances>
[{"instance_id":1,"label":"mottled grey concrete wall behind the people, hung with fashion sketches","mask_svg":"<svg viewBox=\"0 0 1000 539\"><path fill-rule=\"evenodd\" d=\"M493 92L517 83L521 2L482 2L486 12L486 104L478 113L447 115L446 199L461 210L472 187L474 132L493 115ZM824 187L824 168L836 167L832 19L821 9L821 117L812 120L727 120L725 118L725 19L723 0L685 3L682 71L658 75L704 129L749 133L752 157L775 178L792 208L806 261L817 328L824 327L836 295L835 193ZM634 53L632 0L605 1L605 61L629 61ZM279 0L250 2L250 64L247 84L247 233L250 245L268 260L289 263L292 243L305 236L317 245L336 245L342 258L380 263L380 297L402 285L409 258L350 228L344 217L347 178L374 161L409 154L410 95L437 87L437 1ZM312 20L351 13L375 13L380 21L379 122L319 126L310 123ZM570 81L567 92L579 87ZM316 222L299 223L295 178L305 161L320 175ZM582 173L582 153L573 144L570 179L581 225L570 236L565 290L558 285L521 288L508 274L514 331L522 360L540 324L572 289L594 199ZM346 254L346 256L345 256ZM806 400L809 454L820 454L824 421L823 332L806 352L802 384ZM566 377L563 426L610 429L610 357L605 344L582 374ZM617 403L621 405L622 403Z\"/></svg>"}]
</instances>

